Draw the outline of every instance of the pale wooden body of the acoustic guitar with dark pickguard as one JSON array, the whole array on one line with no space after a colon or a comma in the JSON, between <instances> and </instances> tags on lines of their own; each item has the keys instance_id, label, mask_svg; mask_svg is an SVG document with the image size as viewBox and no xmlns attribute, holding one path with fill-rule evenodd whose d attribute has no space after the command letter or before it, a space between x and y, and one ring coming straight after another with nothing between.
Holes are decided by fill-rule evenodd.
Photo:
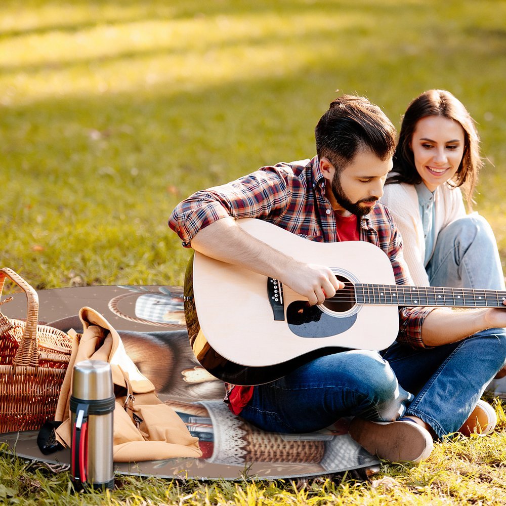
<instances>
[{"instance_id":1,"label":"pale wooden body of the acoustic guitar with dark pickguard","mask_svg":"<svg viewBox=\"0 0 506 506\"><path fill-rule=\"evenodd\" d=\"M327 265L347 286L395 284L387 255L370 243L319 243L261 220L237 223L301 262ZM193 351L210 373L236 385L258 385L342 349L385 349L397 336L397 306L310 307L276 283L195 252L185 279L185 316Z\"/></svg>"}]
</instances>

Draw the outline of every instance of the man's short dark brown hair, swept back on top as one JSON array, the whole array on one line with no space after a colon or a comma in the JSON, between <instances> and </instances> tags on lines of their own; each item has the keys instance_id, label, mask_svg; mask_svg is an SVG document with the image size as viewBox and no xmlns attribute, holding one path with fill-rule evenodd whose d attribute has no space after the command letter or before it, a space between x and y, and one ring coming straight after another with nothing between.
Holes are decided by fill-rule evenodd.
<instances>
[{"instance_id":1,"label":"man's short dark brown hair, swept back on top","mask_svg":"<svg viewBox=\"0 0 506 506\"><path fill-rule=\"evenodd\" d=\"M395 126L364 97L343 95L330 103L315 128L316 154L341 172L357 151L370 149L385 161L395 151Z\"/></svg>"}]
</instances>

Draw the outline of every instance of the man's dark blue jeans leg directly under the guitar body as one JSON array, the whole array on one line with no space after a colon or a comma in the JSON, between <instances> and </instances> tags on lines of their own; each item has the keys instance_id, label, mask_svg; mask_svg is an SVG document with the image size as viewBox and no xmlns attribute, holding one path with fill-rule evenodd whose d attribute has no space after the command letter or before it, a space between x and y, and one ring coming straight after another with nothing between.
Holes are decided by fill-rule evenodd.
<instances>
[{"instance_id":1,"label":"man's dark blue jeans leg directly under the guitar body","mask_svg":"<svg viewBox=\"0 0 506 506\"><path fill-rule=\"evenodd\" d=\"M313 432L342 416L392 421L413 396L377 352L347 350L317 358L255 387L241 417L270 432Z\"/></svg>"}]
</instances>

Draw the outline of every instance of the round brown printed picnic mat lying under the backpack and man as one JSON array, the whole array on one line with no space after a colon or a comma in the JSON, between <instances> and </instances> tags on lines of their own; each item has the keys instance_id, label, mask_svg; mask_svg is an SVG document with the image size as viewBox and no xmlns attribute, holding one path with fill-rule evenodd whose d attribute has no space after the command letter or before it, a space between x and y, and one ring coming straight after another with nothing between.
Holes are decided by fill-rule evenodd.
<instances>
[{"instance_id":1,"label":"round brown printed picnic mat lying under the backpack and man","mask_svg":"<svg viewBox=\"0 0 506 506\"><path fill-rule=\"evenodd\" d=\"M77 314L88 306L118 330L126 352L155 385L160 398L199 438L201 458L115 463L119 474L166 478L266 479L311 477L359 468L378 460L347 433L347 420L311 434L267 433L234 416L223 402L224 386L196 361L181 320L182 289L174 286L87 286L41 290L39 319L67 331L81 330ZM111 303L111 301L113 301ZM26 311L14 294L9 315ZM0 435L23 458L68 466L70 451L44 455L37 431Z\"/></svg>"}]
</instances>

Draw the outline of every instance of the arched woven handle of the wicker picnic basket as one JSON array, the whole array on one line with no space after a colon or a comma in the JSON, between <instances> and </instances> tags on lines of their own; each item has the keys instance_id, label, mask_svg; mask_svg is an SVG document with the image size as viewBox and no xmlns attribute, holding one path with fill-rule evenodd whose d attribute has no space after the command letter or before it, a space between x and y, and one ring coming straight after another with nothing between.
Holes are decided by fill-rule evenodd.
<instances>
[{"instance_id":1,"label":"arched woven handle of the wicker picnic basket","mask_svg":"<svg viewBox=\"0 0 506 506\"><path fill-rule=\"evenodd\" d=\"M5 278L9 278L22 288L26 294L28 303L28 314L26 317L23 335L18 351L12 361L14 367L31 366L38 367L38 346L37 346L37 321L38 321L38 294L37 292L16 272L9 267L0 269L0 296L4 291Z\"/></svg>"}]
</instances>

